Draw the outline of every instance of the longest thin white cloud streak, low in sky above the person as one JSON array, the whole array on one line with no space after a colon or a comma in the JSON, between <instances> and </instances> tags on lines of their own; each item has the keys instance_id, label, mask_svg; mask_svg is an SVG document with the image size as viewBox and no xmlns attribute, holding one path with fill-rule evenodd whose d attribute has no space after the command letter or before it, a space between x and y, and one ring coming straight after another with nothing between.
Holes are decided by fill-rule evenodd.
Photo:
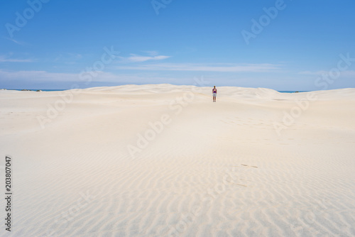
<instances>
[{"instance_id":1,"label":"longest thin white cloud streak, low in sky above the person","mask_svg":"<svg viewBox=\"0 0 355 237\"><path fill-rule=\"evenodd\" d=\"M280 65L273 64L193 64L193 63L160 63L150 65L122 65L117 70L150 70L150 71L200 71L200 72L271 72L280 70Z\"/></svg>"}]
</instances>

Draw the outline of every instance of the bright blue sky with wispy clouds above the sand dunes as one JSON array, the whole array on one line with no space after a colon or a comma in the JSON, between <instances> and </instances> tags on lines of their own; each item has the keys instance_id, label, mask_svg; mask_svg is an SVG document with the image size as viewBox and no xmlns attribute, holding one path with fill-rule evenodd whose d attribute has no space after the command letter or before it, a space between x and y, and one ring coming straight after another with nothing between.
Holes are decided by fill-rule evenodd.
<instances>
[{"instance_id":1,"label":"bright blue sky with wispy clouds above the sand dunes","mask_svg":"<svg viewBox=\"0 0 355 237\"><path fill-rule=\"evenodd\" d=\"M0 88L202 77L217 87L355 87L354 10L354 0L3 0Z\"/></svg>"}]
</instances>

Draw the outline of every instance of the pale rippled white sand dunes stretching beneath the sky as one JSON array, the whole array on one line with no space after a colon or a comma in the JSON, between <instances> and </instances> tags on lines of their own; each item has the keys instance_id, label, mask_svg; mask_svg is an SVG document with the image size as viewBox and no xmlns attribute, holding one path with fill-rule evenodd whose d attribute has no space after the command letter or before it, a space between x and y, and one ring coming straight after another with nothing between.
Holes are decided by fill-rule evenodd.
<instances>
[{"instance_id":1,"label":"pale rippled white sand dunes stretching beneath the sky","mask_svg":"<svg viewBox=\"0 0 355 237\"><path fill-rule=\"evenodd\" d=\"M0 91L11 236L355 236L355 89L217 89Z\"/></svg>"}]
</instances>

